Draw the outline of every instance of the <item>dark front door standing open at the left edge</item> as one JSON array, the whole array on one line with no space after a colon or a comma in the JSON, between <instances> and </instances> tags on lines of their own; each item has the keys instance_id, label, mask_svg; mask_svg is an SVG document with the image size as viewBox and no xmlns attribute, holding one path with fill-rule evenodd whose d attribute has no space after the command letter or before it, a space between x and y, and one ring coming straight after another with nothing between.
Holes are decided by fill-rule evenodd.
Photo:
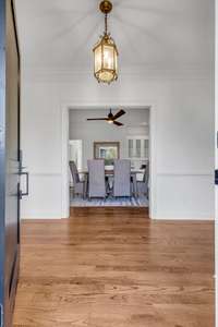
<instances>
[{"instance_id":1,"label":"dark front door standing open at the left edge","mask_svg":"<svg viewBox=\"0 0 218 327\"><path fill-rule=\"evenodd\" d=\"M0 0L0 326L11 327L20 262L20 56L13 2Z\"/></svg>"}]
</instances>

